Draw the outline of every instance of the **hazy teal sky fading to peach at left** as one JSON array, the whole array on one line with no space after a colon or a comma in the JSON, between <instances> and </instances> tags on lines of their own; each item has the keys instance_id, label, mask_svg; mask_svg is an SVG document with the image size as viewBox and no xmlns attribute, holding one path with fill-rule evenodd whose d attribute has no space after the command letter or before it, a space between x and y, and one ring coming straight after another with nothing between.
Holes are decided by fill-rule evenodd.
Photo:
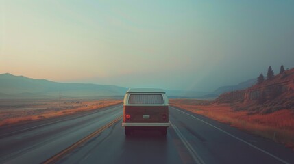
<instances>
[{"instance_id":1,"label":"hazy teal sky fading to peach at left","mask_svg":"<svg viewBox=\"0 0 294 164\"><path fill-rule=\"evenodd\" d=\"M0 0L0 74L211 92L294 66L294 1Z\"/></svg>"}]
</instances>

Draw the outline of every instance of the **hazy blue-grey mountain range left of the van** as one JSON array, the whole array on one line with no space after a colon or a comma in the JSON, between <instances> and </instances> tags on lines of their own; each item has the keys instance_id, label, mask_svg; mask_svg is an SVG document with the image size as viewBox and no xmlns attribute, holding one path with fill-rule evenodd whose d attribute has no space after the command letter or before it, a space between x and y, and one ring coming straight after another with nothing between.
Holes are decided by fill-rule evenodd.
<instances>
[{"instance_id":1,"label":"hazy blue-grey mountain range left of the van","mask_svg":"<svg viewBox=\"0 0 294 164\"><path fill-rule=\"evenodd\" d=\"M31 79L12 74L0 74L0 98L90 98L95 96L123 96L127 88L114 85L86 83L57 83L45 79Z\"/></svg>"}]
</instances>

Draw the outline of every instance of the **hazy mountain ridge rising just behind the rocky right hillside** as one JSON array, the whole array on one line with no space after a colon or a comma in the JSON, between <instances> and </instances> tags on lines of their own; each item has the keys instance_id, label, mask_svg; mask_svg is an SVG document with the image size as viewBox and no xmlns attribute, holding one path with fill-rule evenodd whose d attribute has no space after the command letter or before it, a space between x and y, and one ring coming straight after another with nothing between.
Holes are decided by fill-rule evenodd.
<instances>
[{"instance_id":1,"label":"hazy mountain ridge rising just behind the rocky right hillside","mask_svg":"<svg viewBox=\"0 0 294 164\"><path fill-rule=\"evenodd\" d=\"M252 87L252 85L256 84L256 78L255 79L249 79L247 81L244 81L242 83L239 83L238 85L228 85L217 88L213 93L214 94L223 94L225 92L231 92L234 90L243 90L247 87Z\"/></svg>"}]
</instances>

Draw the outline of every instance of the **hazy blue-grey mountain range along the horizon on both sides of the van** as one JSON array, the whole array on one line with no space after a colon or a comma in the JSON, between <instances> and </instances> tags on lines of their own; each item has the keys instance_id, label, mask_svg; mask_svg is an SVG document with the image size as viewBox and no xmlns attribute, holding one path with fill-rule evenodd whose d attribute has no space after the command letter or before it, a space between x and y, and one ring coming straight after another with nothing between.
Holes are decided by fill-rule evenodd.
<instances>
[{"instance_id":1,"label":"hazy blue-grey mountain range along the horizon on both sides of the van","mask_svg":"<svg viewBox=\"0 0 294 164\"><path fill-rule=\"evenodd\" d=\"M232 86L219 87L215 92L197 92L185 90L167 90L169 98L202 98L214 99L224 92L241 90L256 83L249 79ZM0 74L0 99L5 98L96 98L99 96L124 96L127 88L114 85L97 85L88 83L57 83L45 79L31 79L12 74Z\"/></svg>"}]
</instances>

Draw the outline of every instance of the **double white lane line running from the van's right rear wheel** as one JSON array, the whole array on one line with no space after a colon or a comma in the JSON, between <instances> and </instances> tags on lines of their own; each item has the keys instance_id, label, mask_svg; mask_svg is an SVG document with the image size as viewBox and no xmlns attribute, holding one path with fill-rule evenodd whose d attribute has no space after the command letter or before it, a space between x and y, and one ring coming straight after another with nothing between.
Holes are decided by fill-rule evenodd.
<instances>
[{"instance_id":1,"label":"double white lane line running from the van's right rear wheel","mask_svg":"<svg viewBox=\"0 0 294 164\"><path fill-rule=\"evenodd\" d=\"M171 123L171 122L170 122ZM195 163L197 164L205 164L204 161L200 158L200 156L197 154L197 152L194 150L193 146L191 146L190 143L188 143L187 139L182 135L180 130L171 123L171 127L173 127L173 130L175 130L175 133L177 133L177 136L181 139L182 143L184 143L184 146L186 146L188 152L190 152L192 158L194 159Z\"/></svg>"}]
</instances>

